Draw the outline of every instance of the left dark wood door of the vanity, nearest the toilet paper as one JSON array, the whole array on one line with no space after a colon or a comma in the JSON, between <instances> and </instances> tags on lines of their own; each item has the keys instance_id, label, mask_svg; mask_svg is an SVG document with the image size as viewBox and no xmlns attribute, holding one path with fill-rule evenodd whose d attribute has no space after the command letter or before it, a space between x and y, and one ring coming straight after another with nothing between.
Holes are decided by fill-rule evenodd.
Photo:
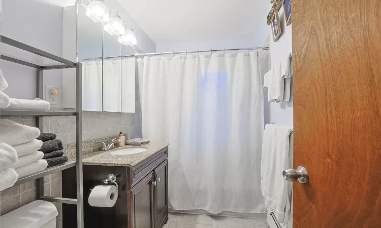
<instances>
[{"instance_id":1,"label":"left dark wood door of the vanity, nearest the toilet paper","mask_svg":"<svg viewBox=\"0 0 381 228\"><path fill-rule=\"evenodd\" d=\"M130 190L131 227L154 228L153 223L153 172Z\"/></svg>"}]
</instances>

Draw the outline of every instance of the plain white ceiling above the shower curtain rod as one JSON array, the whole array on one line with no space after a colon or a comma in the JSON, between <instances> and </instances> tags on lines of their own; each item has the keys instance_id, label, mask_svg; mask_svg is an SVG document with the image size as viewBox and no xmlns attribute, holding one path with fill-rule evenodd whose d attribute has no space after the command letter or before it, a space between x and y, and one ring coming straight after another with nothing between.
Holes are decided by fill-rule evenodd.
<instances>
[{"instance_id":1,"label":"plain white ceiling above the shower curtain rod","mask_svg":"<svg viewBox=\"0 0 381 228\"><path fill-rule=\"evenodd\" d=\"M250 39L270 0L117 0L156 44Z\"/></svg>"}]
</instances>

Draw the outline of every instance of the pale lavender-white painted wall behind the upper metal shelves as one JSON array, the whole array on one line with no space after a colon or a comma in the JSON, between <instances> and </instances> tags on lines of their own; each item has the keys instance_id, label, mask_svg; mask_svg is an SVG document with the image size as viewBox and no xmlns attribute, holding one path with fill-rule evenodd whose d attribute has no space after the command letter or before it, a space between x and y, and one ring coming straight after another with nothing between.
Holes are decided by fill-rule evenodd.
<instances>
[{"instance_id":1,"label":"pale lavender-white painted wall behind the upper metal shelves","mask_svg":"<svg viewBox=\"0 0 381 228\"><path fill-rule=\"evenodd\" d=\"M36 1L3 0L2 35L34 46L57 56L62 56L62 8ZM31 56L2 44L1 52L42 63ZM4 91L12 98L36 97L36 69L1 60L0 67L9 87ZM44 71L44 85L61 87L62 70ZM58 100L58 105L61 100Z\"/></svg>"}]
</instances>

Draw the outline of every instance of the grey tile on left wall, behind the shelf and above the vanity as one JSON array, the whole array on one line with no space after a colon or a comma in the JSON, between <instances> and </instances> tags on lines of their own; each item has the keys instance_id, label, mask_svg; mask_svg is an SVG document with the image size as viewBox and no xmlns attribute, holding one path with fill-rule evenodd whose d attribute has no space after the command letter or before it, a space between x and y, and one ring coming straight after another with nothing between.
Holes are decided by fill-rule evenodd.
<instances>
[{"instance_id":1,"label":"grey tile on left wall, behind the shelf and above the vanity","mask_svg":"<svg viewBox=\"0 0 381 228\"><path fill-rule=\"evenodd\" d=\"M141 115L137 113L120 112L82 112L82 140L116 136L122 131L128 138L142 137ZM7 118L20 124L37 126L36 118ZM76 141L75 117L44 117L43 132L57 135L63 144ZM15 210L37 199L36 180L5 189L0 195L0 215ZM46 196L61 196L61 173L44 177L44 194ZM57 227L62 227L62 205L55 203L58 209Z\"/></svg>"}]
</instances>

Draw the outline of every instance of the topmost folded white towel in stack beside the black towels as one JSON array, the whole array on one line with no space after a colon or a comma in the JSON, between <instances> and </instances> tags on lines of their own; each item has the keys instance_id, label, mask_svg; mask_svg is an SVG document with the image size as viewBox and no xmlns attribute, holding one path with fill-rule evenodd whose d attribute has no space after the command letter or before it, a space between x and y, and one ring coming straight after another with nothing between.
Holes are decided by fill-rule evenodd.
<instances>
[{"instance_id":1,"label":"topmost folded white towel in stack beside the black towels","mask_svg":"<svg viewBox=\"0 0 381 228\"><path fill-rule=\"evenodd\" d=\"M7 119L0 119L0 142L11 146L30 142L40 135L40 129L22 125Z\"/></svg>"}]
</instances>

